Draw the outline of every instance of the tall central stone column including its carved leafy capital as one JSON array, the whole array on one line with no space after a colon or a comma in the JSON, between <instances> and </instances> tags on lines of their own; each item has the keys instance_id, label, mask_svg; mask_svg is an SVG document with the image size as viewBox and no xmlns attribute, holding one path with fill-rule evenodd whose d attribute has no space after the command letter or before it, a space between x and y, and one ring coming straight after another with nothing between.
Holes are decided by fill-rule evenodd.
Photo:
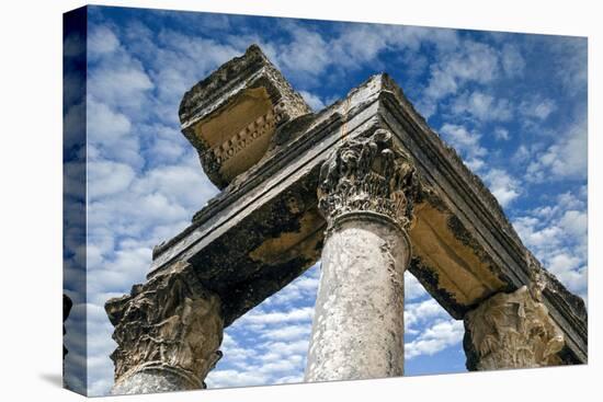
<instances>
[{"instance_id":1,"label":"tall central stone column including its carved leafy capital","mask_svg":"<svg viewBox=\"0 0 603 402\"><path fill-rule=\"evenodd\" d=\"M408 156L383 129L354 138L323 164L328 222L306 381L403 374L403 272L417 189Z\"/></svg>"}]
</instances>

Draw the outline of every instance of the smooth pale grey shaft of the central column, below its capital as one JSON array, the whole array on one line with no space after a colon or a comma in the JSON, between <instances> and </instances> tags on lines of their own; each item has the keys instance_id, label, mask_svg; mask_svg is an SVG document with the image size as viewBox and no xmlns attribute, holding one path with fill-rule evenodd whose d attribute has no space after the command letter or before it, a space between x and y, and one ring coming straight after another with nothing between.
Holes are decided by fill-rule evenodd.
<instances>
[{"instance_id":1,"label":"smooth pale grey shaft of the central column, below its capital","mask_svg":"<svg viewBox=\"0 0 603 402\"><path fill-rule=\"evenodd\" d=\"M341 216L325 241L306 381L402 376L410 241L373 213Z\"/></svg>"}]
</instances>

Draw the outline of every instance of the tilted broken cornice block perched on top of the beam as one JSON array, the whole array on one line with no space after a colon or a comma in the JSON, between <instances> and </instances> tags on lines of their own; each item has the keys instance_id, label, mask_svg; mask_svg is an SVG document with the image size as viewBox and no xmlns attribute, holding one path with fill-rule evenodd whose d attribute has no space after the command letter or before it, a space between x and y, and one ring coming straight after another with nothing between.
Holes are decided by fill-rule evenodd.
<instances>
[{"instance_id":1,"label":"tilted broken cornice block perched on top of the beam","mask_svg":"<svg viewBox=\"0 0 603 402\"><path fill-rule=\"evenodd\" d=\"M310 112L252 45L186 92L179 114L205 173L224 188L262 159L278 126Z\"/></svg>"}]
</instances>

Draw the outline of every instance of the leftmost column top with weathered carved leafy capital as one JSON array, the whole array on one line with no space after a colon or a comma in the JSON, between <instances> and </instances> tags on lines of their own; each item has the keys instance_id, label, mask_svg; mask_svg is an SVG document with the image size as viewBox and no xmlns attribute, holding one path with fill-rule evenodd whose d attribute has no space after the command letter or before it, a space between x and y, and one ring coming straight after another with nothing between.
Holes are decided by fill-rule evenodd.
<instances>
[{"instance_id":1,"label":"leftmost column top with weathered carved leafy capital","mask_svg":"<svg viewBox=\"0 0 603 402\"><path fill-rule=\"evenodd\" d=\"M218 296L182 262L111 299L105 310L117 348L113 394L205 388L221 357L224 320Z\"/></svg>"}]
</instances>

